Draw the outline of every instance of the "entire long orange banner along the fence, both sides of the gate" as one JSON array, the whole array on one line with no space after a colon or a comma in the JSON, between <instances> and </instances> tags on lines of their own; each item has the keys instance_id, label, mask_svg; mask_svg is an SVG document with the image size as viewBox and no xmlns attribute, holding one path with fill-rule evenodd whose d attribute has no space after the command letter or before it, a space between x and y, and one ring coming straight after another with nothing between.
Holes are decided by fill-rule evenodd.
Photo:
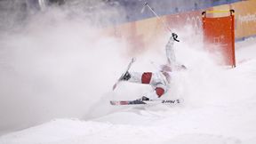
<instances>
[{"instance_id":1,"label":"entire long orange banner along the fence, both sides of the gate","mask_svg":"<svg viewBox=\"0 0 256 144\"><path fill-rule=\"evenodd\" d=\"M247 0L234 4L224 4L208 8L212 11L235 10L235 39L241 39L247 36L256 35L256 0ZM129 49L136 52L142 52L148 46L156 43L159 38L166 36L166 28L163 21L172 29L184 28L185 25L191 25L195 33L202 31L202 12L197 10L193 12L181 12L177 14L165 15L160 20L150 18L138 20L108 28L110 36L116 36L124 39L129 45ZM227 13L211 13L209 16L226 17ZM162 21L163 20L163 21Z\"/></svg>"}]
</instances>

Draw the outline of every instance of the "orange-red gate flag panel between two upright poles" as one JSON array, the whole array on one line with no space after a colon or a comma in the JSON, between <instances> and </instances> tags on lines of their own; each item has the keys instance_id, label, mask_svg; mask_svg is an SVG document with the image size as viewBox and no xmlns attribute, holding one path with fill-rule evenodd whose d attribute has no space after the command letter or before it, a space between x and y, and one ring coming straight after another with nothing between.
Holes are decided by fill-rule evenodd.
<instances>
[{"instance_id":1,"label":"orange-red gate flag panel between two upright poles","mask_svg":"<svg viewBox=\"0 0 256 144\"><path fill-rule=\"evenodd\" d=\"M229 12L228 16L218 18L207 18L207 13ZM220 52L224 59L224 64L232 68L236 67L235 59L235 16L234 10L230 11L209 11L202 12L204 43L217 45L217 51ZM211 46L210 52L215 51Z\"/></svg>"}]
</instances>

